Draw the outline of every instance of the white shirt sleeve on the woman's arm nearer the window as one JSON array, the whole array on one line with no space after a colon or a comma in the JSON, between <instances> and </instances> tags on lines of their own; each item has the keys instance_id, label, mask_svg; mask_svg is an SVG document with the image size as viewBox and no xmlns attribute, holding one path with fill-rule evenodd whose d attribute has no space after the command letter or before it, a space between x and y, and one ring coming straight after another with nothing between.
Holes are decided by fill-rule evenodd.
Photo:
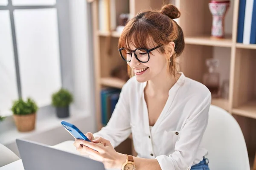
<instances>
[{"instance_id":1,"label":"white shirt sleeve on the woman's arm nearer the window","mask_svg":"<svg viewBox=\"0 0 256 170\"><path fill-rule=\"evenodd\" d=\"M127 83L123 86L118 102L112 116L105 127L93 134L94 137L102 137L109 140L113 147L118 146L131 134L129 95Z\"/></svg>"}]
</instances>

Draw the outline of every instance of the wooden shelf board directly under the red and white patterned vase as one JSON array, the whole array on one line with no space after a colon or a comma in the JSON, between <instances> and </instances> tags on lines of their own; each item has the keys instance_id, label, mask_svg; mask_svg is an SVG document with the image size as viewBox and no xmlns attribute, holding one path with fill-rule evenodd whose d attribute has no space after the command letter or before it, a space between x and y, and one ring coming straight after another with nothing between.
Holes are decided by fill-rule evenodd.
<instances>
[{"instance_id":1,"label":"wooden shelf board directly under the red and white patterned vase","mask_svg":"<svg viewBox=\"0 0 256 170\"><path fill-rule=\"evenodd\" d=\"M194 45L208 45L208 46L217 46L217 47L231 47L232 39L228 36L225 39L212 38L210 36L193 36L185 37L186 44Z\"/></svg>"}]
</instances>

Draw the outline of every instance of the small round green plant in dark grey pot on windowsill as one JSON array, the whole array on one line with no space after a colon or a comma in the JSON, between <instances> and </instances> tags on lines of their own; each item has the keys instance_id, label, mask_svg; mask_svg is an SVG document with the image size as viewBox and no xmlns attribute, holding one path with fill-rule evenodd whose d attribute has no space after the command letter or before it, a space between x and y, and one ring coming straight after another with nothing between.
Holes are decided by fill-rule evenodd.
<instances>
[{"instance_id":1,"label":"small round green plant in dark grey pot on windowsill","mask_svg":"<svg viewBox=\"0 0 256 170\"><path fill-rule=\"evenodd\" d=\"M58 118L69 117L69 105L72 102L73 95L64 88L52 94L52 105L56 107Z\"/></svg>"}]
</instances>

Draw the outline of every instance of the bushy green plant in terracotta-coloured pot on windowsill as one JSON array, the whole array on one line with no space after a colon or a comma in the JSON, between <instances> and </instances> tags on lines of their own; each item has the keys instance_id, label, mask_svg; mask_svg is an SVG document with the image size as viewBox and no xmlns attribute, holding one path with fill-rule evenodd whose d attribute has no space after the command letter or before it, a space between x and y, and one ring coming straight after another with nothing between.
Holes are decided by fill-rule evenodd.
<instances>
[{"instance_id":1,"label":"bushy green plant in terracotta-coloured pot on windowsill","mask_svg":"<svg viewBox=\"0 0 256 170\"><path fill-rule=\"evenodd\" d=\"M11 110L18 131L28 132L35 129L35 116L38 106L32 99L14 101Z\"/></svg>"}]
</instances>

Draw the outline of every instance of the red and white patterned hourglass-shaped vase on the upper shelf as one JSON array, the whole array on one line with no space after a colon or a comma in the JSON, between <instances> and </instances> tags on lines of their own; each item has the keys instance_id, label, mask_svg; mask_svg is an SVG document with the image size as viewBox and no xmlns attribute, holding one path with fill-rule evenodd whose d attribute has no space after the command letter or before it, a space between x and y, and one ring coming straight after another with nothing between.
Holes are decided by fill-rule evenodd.
<instances>
[{"instance_id":1,"label":"red and white patterned hourglass-shaped vase on the upper shelf","mask_svg":"<svg viewBox=\"0 0 256 170\"><path fill-rule=\"evenodd\" d=\"M224 18L230 7L230 0L211 0L209 9L212 13L212 37L224 38Z\"/></svg>"}]
</instances>

